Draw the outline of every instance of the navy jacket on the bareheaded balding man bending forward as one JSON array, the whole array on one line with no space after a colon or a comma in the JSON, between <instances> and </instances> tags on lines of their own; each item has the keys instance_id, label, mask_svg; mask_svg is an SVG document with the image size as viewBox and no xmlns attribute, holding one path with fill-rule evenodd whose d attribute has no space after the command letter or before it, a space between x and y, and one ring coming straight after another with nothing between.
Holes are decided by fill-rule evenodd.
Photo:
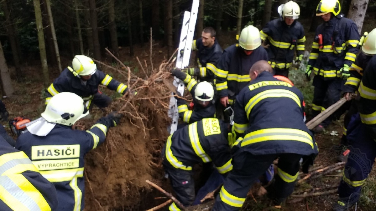
<instances>
[{"instance_id":1,"label":"navy jacket on the bareheaded balding man bending forward","mask_svg":"<svg viewBox=\"0 0 376 211\"><path fill-rule=\"evenodd\" d=\"M303 111L303 94L296 87L261 72L236 98L233 127L238 139L233 147L253 155L317 154Z\"/></svg>"}]
</instances>

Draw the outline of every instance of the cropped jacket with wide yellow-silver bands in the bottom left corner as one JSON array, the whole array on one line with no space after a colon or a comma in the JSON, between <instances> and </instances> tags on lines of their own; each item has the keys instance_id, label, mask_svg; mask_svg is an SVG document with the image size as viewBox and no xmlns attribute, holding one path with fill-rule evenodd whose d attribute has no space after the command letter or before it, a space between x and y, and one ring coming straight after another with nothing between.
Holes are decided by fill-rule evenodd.
<instances>
[{"instance_id":1,"label":"cropped jacket with wide yellow-silver bands in the bottom left corner","mask_svg":"<svg viewBox=\"0 0 376 211\"><path fill-rule=\"evenodd\" d=\"M55 211L54 185L45 179L24 152L0 137L0 210Z\"/></svg>"}]
</instances>

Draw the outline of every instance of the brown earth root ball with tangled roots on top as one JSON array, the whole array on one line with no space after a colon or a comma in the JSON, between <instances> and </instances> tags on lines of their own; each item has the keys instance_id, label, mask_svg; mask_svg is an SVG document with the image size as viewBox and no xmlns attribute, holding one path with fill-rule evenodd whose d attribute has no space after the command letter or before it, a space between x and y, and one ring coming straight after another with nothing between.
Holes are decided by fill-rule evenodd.
<instances>
[{"instance_id":1,"label":"brown earth root ball with tangled roots on top","mask_svg":"<svg viewBox=\"0 0 376 211\"><path fill-rule=\"evenodd\" d=\"M142 196L152 191L145 180L159 183L163 178L160 154L171 123L171 92L162 78L170 77L170 68L162 63L148 79L135 78L129 87L137 94L115 100L106 110L124 118L108 131L106 142L85 157L85 210L138 210Z\"/></svg>"}]
</instances>

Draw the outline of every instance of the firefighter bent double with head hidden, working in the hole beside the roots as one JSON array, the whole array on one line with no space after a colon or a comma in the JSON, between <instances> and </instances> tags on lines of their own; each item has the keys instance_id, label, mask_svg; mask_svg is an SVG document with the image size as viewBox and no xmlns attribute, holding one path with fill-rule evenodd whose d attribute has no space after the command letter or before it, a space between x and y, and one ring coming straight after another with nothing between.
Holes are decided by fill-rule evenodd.
<instances>
[{"instance_id":1,"label":"firefighter bent double with head hidden, working in the hole beside the roots","mask_svg":"<svg viewBox=\"0 0 376 211\"><path fill-rule=\"evenodd\" d=\"M176 130L162 150L163 167L170 178L176 198L183 206L195 199L192 166L213 162L218 172L232 169L229 141L230 124L215 118L205 118ZM172 203L169 210L180 210Z\"/></svg>"}]
</instances>

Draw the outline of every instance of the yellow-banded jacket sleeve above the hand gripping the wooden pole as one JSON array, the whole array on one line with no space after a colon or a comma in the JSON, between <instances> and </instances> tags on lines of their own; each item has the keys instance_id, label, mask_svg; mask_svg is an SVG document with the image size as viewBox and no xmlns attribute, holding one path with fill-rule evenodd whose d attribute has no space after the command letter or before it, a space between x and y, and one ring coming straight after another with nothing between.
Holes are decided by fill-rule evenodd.
<instances>
[{"instance_id":1,"label":"yellow-banded jacket sleeve above the hand gripping the wooden pole","mask_svg":"<svg viewBox=\"0 0 376 211\"><path fill-rule=\"evenodd\" d=\"M346 80L343 92L355 93L355 91L358 90L360 81L363 77L363 71L367 67L371 58L372 56L367 56L362 51L356 56L355 62L350 66L350 77Z\"/></svg>"}]
</instances>

